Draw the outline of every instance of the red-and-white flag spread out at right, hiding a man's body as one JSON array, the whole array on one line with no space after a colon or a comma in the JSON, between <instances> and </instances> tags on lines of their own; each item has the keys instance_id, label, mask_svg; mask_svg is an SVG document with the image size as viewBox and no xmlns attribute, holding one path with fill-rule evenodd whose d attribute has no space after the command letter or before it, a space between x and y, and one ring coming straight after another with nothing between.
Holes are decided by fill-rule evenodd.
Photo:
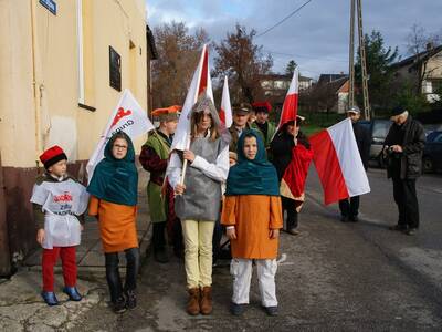
<instances>
[{"instance_id":1,"label":"red-and-white flag spread out at right, hiding a man's body","mask_svg":"<svg viewBox=\"0 0 442 332\"><path fill-rule=\"evenodd\" d=\"M317 133L309 141L326 205L370 193L350 118Z\"/></svg>"}]
</instances>

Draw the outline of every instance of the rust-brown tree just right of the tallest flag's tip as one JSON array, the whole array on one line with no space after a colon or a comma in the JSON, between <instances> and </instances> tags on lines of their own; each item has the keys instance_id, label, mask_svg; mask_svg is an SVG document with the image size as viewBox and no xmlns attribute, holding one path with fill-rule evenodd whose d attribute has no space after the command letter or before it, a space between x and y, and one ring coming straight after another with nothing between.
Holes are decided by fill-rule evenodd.
<instances>
[{"instance_id":1,"label":"rust-brown tree just right of the tallest flag's tip","mask_svg":"<svg viewBox=\"0 0 442 332\"><path fill-rule=\"evenodd\" d=\"M214 59L215 75L228 75L232 98L235 102L252 103L262 97L260 76L270 72L273 59L264 55L262 46L253 43L256 31L236 24L234 32L228 32L224 40L214 43L218 56Z\"/></svg>"}]
</instances>

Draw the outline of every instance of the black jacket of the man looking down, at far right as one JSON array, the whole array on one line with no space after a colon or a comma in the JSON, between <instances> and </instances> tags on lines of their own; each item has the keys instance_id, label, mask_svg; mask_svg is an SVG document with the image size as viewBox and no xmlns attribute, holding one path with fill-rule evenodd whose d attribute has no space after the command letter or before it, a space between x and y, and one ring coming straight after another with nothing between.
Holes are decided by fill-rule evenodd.
<instances>
[{"instance_id":1,"label":"black jacket of the man looking down, at far right","mask_svg":"<svg viewBox=\"0 0 442 332\"><path fill-rule=\"evenodd\" d=\"M422 125L409 115L404 124L397 125L393 123L391 125L385 141L385 147L397 144L394 137L403 137L402 144L399 143L403 152L388 154L388 177L396 174L401 179L418 178L422 174L422 154L425 145L425 133ZM393 158L399 159L397 163L399 167L394 167Z\"/></svg>"}]
</instances>

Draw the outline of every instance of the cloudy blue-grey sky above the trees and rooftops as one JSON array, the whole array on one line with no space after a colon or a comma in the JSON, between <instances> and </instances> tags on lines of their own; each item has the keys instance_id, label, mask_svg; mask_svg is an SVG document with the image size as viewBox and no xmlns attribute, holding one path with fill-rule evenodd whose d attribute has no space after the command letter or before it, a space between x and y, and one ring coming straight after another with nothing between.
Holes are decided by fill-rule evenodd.
<instances>
[{"instance_id":1,"label":"cloudy blue-grey sky above the trees and rooftops","mask_svg":"<svg viewBox=\"0 0 442 332\"><path fill-rule=\"evenodd\" d=\"M148 24L183 21L202 27L211 41L220 41L239 22L257 34L271 28L307 0L146 0ZM284 72L294 59L303 75L348 72L350 0L312 0L277 28L255 39L272 52L274 72ZM364 31L378 30L387 45L407 55L411 25L442 34L442 0L362 1Z\"/></svg>"}]
</instances>

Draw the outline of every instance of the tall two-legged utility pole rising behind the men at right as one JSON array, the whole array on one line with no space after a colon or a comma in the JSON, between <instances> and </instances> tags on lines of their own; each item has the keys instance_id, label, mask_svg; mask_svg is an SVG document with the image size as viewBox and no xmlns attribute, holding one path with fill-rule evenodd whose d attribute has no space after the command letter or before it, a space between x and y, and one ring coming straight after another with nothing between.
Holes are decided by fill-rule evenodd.
<instances>
[{"instance_id":1,"label":"tall two-legged utility pole rising behind the men at right","mask_svg":"<svg viewBox=\"0 0 442 332\"><path fill-rule=\"evenodd\" d=\"M350 49L349 49L349 98L348 106L355 105L355 1L356 10L358 12L358 37L359 37L359 56L362 75L362 95L364 95L364 117L370 120L370 101L368 97L368 75L367 75L367 60L366 60L366 48L364 41L362 31L362 6L361 0L351 1L351 14L350 14Z\"/></svg>"}]
</instances>

